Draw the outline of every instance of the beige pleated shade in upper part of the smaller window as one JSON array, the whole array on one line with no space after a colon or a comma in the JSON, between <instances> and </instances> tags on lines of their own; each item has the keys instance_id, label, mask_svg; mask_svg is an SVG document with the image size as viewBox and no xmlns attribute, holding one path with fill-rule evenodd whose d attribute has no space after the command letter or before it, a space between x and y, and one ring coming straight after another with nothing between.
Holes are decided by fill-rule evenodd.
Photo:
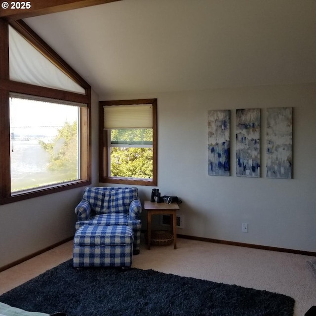
<instances>
[{"instance_id":1,"label":"beige pleated shade in upper part of the smaller window","mask_svg":"<svg viewBox=\"0 0 316 316\"><path fill-rule=\"evenodd\" d=\"M151 104L104 106L104 129L152 128Z\"/></svg>"}]
</instances>

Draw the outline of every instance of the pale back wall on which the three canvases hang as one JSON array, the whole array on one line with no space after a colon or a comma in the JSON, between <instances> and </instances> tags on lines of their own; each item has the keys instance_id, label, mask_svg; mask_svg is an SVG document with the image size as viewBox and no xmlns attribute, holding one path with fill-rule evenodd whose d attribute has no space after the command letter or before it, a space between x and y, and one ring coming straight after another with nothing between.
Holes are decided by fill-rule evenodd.
<instances>
[{"instance_id":1,"label":"pale back wall on which the three canvases hang","mask_svg":"<svg viewBox=\"0 0 316 316\"><path fill-rule=\"evenodd\" d=\"M316 251L316 84L128 96L158 98L158 188L178 196L179 234ZM265 178L265 109L293 107L293 179ZM262 112L261 178L235 175L235 109ZM207 111L230 109L232 176L207 175ZM139 187L150 198L151 187ZM143 227L146 217L142 215ZM241 223L249 232L241 232Z\"/></svg>"}]
</instances>

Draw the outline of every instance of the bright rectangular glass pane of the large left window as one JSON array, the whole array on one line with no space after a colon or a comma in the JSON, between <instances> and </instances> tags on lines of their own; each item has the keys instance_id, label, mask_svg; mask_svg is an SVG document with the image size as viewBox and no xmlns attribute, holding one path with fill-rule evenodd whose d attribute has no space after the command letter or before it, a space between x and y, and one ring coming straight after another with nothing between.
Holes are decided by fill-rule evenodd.
<instances>
[{"instance_id":1,"label":"bright rectangular glass pane of the large left window","mask_svg":"<svg viewBox=\"0 0 316 316\"><path fill-rule=\"evenodd\" d=\"M10 95L12 193L80 179L80 107Z\"/></svg>"}]
</instances>

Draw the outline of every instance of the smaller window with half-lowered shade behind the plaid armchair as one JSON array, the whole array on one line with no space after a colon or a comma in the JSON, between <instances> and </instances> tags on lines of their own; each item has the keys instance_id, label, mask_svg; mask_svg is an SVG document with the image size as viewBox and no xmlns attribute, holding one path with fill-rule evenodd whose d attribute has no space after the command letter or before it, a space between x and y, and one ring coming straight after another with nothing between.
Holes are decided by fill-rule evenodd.
<instances>
[{"instance_id":1,"label":"smaller window with half-lowered shade behind the plaid armchair","mask_svg":"<svg viewBox=\"0 0 316 316\"><path fill-rule=\"evenodd\" d=\"M157 99L100 102L100 182L157 185Z\"/></svg>"}]
</instances>

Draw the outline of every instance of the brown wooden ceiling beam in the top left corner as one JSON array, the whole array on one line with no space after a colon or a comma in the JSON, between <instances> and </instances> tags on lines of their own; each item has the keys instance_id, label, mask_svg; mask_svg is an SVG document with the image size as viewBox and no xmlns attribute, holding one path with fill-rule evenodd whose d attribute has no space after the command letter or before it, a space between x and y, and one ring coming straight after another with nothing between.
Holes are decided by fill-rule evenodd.
<instances>
[{"instance_id":1,"label":"brown wooden ceiling beam in the top left corner","mask_svg":"<svg viewBox=\"0 0 316 316\"><path fill-rule=\"evenodd\" d=\"M6 19L7 21L14 21L115 1L121 0L26 0L24 1L25 5L21 1L15 2L19 3L18 6L23 5L24 8L13 9L13 2L11 0L1 0L0 18ZM6 3L8 4L8 8L6 8Z\"/></svg>"}]
</instances>

